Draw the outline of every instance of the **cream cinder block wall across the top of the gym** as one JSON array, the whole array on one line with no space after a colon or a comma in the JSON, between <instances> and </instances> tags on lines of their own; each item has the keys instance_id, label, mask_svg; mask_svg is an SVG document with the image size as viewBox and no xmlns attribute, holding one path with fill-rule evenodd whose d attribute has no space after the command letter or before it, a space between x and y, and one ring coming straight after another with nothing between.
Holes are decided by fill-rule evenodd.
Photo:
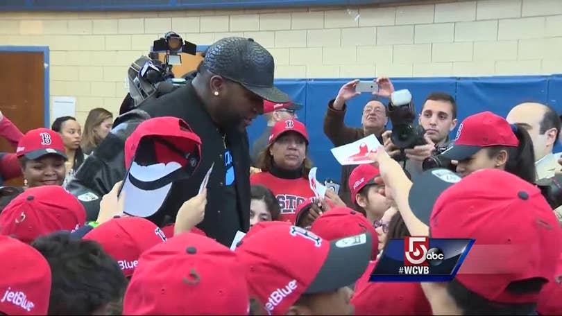
<instances>
[{"instance_id":1,"label":"cream cinder block wall across the top of the gym","mask_svg":"<svg viewBox=\"0 0 562 316\"><path fill-rule=\"evenodd\" d=\"M48 45L52 96L117 112L128 65L174 30L211 44L253 37L278 78L493 76L562 72L562 0L173 12L6 12L3 45Z\"/></svg>"}]
</instances>

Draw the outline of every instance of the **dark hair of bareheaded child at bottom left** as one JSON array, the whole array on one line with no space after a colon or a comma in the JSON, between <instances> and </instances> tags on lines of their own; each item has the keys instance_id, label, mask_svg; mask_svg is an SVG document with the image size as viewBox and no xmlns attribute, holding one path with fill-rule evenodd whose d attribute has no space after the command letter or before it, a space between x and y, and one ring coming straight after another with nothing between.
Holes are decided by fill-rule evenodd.
<instances>
[{"instance_id":1,"label":"dark hair of bareheaded child at bottom left","mask_svg":"<svg viewBox=\"0 0 562 316\"><path fill-rule=\"evenodd\" d=\"M37 238L31 246L51 267L49 315L92 315L123 299L125 275L98 243L51 234Z\"/></svg>"}]
</instances>

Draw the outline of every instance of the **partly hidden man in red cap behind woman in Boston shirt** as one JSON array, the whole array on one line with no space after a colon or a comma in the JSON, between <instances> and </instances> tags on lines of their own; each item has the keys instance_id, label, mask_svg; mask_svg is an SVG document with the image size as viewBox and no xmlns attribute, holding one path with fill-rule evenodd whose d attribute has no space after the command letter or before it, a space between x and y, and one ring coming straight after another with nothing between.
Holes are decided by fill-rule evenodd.
<instances>
[{"instance_id":1,"label":"partly hidden man in red cap behind woman in Boston shirt","mask_svg":"<svg viewBox=\"0 0 562 316\"><path fill-rule=\"evenodd\" d=\"M299 103L273 103L268 100L264 100L264 118L267 121L267 126L261 135L252 144L252 165L256 166L257 157L259 153L262 152L267 147L269 141L269 134L271 134L271 128L273 125L279 121L286 120L296 120L298 119L297 111L302 109L303 105Z\"/></svg>"}]
</instances>

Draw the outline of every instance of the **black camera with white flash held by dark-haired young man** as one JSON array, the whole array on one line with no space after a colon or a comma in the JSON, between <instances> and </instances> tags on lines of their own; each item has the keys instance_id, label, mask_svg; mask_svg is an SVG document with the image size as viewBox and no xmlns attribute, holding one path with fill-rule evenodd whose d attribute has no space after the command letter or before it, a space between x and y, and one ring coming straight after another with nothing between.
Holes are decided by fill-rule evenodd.
<instances>
[{"instance_id":1,"label":"black camera with white flash held by dark-haired young man","mask_svg":"<svg viewBox=\"0 0 562 316\"><path fill-rule=\"evenodd\" d=\"M389 103L389 118L392 122L392 143L400 149L396 160L406 160L404 150L425 144L425 130L416 123L416 107L407 89L394 91Z\"/></svg>"}]
</instances>

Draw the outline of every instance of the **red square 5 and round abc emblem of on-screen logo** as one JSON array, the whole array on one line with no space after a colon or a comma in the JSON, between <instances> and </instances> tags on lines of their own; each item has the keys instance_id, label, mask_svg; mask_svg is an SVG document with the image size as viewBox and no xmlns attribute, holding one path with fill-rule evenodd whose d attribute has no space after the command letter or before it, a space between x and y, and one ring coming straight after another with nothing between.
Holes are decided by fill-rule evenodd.
<instances>
[{"instance_id":1,"label":"red square 5 and round abc emblem of on-screen logo","mask_svg":"<svg viewBox=\"0 0 562 316\"><path fill-rule=\"evenodd\" d=\"M428 237L404 238L404 265L440 265L445 256L439 248L429 248Z\"/></svg>"}]
</instances>

